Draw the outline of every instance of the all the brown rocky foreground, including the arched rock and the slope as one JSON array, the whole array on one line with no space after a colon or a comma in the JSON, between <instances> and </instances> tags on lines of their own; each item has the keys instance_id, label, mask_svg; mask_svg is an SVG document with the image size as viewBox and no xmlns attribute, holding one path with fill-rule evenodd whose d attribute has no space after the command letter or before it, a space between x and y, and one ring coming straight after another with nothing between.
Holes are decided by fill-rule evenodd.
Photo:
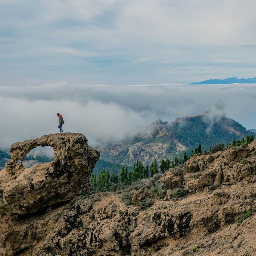
<instances>
[{"instance_id":1,"label":"all the brown rocky foreground, including the arched rock and the slope","mask_svg":"<svg viewBox=\"0 0 256 256\"><path fill-rule=\"evenodd\" d=\"M53 147L52 163L16 163L38 145ZM10 151L0 172L0 255L255 255L256 140L92 195L99 152L82 134L45 135Z\"/></svg>"}]
</instances>

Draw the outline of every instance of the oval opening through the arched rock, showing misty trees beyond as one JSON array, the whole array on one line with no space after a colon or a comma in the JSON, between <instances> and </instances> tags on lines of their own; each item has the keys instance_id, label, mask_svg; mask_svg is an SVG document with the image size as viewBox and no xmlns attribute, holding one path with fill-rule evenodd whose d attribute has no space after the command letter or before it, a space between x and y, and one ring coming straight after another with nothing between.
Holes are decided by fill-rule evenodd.
<instances>
[{"instance_id":1,"label":"oval opening through the arched rock, showing misty trees beyond","mask_svg":"<svg viewBox=\"0 0 256 256\"><path fill-rule=\"evenodd\" d=\"M28 154L25 156L22 164L24 168L29 168L36 164L44 164L48 162L52 162L54 160L54 151L50 146L41 147L38 146L33 148Z\"/></svg>"}]
</instances>

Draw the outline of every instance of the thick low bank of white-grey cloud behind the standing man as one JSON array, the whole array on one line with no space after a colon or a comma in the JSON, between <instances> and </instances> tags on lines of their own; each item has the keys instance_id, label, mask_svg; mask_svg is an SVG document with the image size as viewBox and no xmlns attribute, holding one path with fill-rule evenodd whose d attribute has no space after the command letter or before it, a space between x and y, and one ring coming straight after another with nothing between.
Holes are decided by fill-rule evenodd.
<instances>
[{"instance_id":1,"label":"thick low bank of white-grey cloud behind the standing man","mask_svg":"<svg viewBox=\"0 0 256 256\"><path fill-rule=\"evenodd\" d=\"M120 140L158 118L199 114L222 99L225 111L247 129L256 128L256 87L233 85L90 86L66 82L40 86L0 86L0 148L15 141L58 132L81 132L94 146Z\"/></svg>"}]
</instances>

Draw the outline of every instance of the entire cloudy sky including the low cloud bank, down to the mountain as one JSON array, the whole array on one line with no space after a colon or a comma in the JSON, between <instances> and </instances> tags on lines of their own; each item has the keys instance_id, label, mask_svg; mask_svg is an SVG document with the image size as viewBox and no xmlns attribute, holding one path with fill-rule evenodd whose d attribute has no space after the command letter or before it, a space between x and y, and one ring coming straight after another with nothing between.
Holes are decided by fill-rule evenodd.
<instances>
[{"instance_id":1,"label":"entire cloudy sky including the low cloud bank, down to the mountain","mask_svg":"<svg viewBox=\"0 0 256 256\"><path fill-rule=\"evenodd\" d=\"M253 0L0 0L0 148L64 131L120 140L202 113L256 128Z\"/></svg>"}]
</instances>

